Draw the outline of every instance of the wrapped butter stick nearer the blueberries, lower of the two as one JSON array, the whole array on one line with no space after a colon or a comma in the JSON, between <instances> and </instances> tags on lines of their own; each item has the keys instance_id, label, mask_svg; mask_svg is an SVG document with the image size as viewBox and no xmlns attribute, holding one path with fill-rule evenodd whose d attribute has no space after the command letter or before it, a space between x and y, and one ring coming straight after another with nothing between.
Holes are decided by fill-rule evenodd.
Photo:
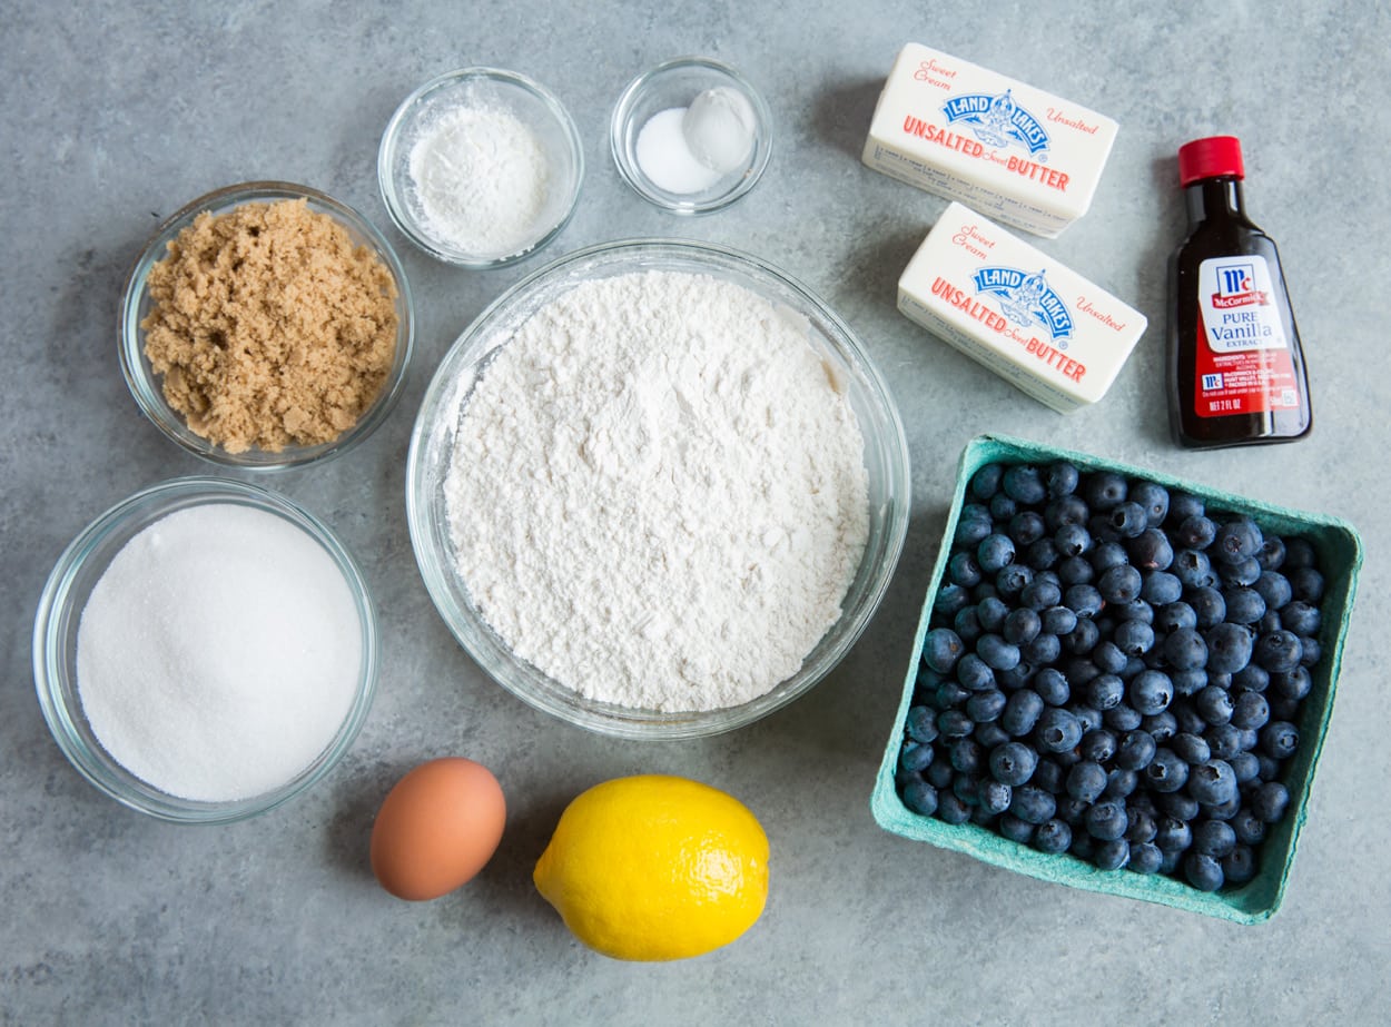
<instances>
[{"instance_id":1,"label":"wrapped butter stick nearer the blueberries, lower of the two","mask_svg":"<svg viewBox=\"0 0 1391 1027\"><path fill-rule=\"evenodd\" d=\"M1138 310L960 203L904 269L899 310L1060 413L1106 395L1146 326Z\"/></svg>"}]
</instances>

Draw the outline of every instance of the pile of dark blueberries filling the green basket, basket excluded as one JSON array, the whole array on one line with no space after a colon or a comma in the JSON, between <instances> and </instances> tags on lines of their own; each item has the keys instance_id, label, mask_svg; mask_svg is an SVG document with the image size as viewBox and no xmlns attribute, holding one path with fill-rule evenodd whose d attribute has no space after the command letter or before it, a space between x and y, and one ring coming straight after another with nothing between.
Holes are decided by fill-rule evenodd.
<instances>
[{"instance_id":1,"label":"pile of dark blueberries filling the green basket, basket excluded","mask_svg":"<svg viewBox=\"0 0 1391 1027\"><path fill-rule=\"evenodd\" d=\"M903 803L1103 870L1251 881L1320 657L1313 547L1070 462L986 465L965 498Z\"/></svg>"}]
</instances>

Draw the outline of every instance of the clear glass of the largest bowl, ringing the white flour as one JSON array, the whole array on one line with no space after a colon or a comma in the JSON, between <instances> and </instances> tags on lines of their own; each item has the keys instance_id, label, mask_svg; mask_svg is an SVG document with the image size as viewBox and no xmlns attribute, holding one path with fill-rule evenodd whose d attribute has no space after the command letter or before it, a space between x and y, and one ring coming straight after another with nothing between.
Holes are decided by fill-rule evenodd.
<instances>
[{"instance_id":1,"label":"clear glass of the largest bowl, ringing the white flour","mask_svg":"<svg viewBox=\"0 0 1391 1027\"><path fill-rule=\"evenodd\" d=\"M881 557L867 578L867 587L854 607L853 615L850 608L844 607L842 618L837 619L836 623L828 629L826 636L817 643L819 647L825 643L826 637L840 632L835 644L822 653L814 665L804 662L794 675L783 682L779 682L762 696L758 696L741 706L722 707L712 711L675 714L600 703L590 703L594 708L579 707L577 703L588 703L590 700L580 700L577 693L572 693L570 689L566 689L548 675L544 675L530 664L526 664L526 661L512 654L510 648L501 643L501 639L498 639L498 643L499 650L504 654L502 662L505 665L499 665L490 657L488 653L481 653L479 647L466 640L460 626L455 623L451 615L453 603L447 584L447 579L458 582L458 578L445 566L447 561L444 557L447 557L447 554L437 552L430 543L431 527L435 522L430 515L431 497L426 494L426 473L428 470L426 465L426 451L431 445L441 405L449 401L449 397L458 384L460 377L458 372L470 366L465 362L465 355L470 355L470 359L476 362L477 356L481 356L483 353L473 355L472 351L487 347L495 338L495 335L491 334L495 321L502 317L513 303L530 296L537 288L545 287L554 280L563 282L566 273L572 271L574 267L583 267L587 263L594 262L604 262L605 257L608 257L612 263L601 266L613 266L620 263L629 255L634 257L657 255L677 262L686 260L693 266L704 266L707 269L711 262L714 262L716 267L730 269L734 273L746 276L746 278L751 278L754 281L758 281L759 276L766 276L780 288L790 289L800 302L807 305L807 310L814 312L818 319L823 320L833 330L833 334L822 334L829 337L832 348L836 349L837 355L843 359L849 373L861 379L860 384L872 399L876 419L882 422L882 424L876 424L872 431L865 433L867 449L878 447L883 451L883 488L886 493L883 502L879 504L885 511L882 514L883 530L881 534L883 536L883 541L881 546ZM864 426L861 426L861 430L864 431ZM529 277L516 282L512 288L488 305L488 308L485 308L483 313L480 313L449 347L447 353L441 358L435 374L421 398L420 408L416 415L416 423L412 429L410 448L406 458L406 523L410 532L410 544L415 551L416 565L437 612L469 657L506 692L512 693L517 699L522 699L524 703L537 710L602 735L632 739L702 738L746 726L747 724L758 721L775 710L782 708L794 699L798 699L810 692L849 654L881 607L893 579L894 568L897 566L899 558L903 552L911 500L911 472L908 462L907 437L904 434L903 420L899 415L893 394L890 392L878 367L869 360L868 353L864 351L855 334L814 291L769 262L729 246L673 238L630 238L587 246L568 253L551 262L545 267L541 267ZM872 518L874 514L871 514L871 519ZM874 532L871 532L871 539L872 537ZM867 561L869 561L872 555L871 547L867 543L865 554L861 557L861 564L857 566L857 580L861 573L864 573L864 568L868 566ZM458 583L463 587L462 582ZM492 629L488 628L477 615L472 604L466 604L466 608L460 610L459 614L472 625L481 626L488 633L492 632ZM847 615L850 619L846 619ZM576 704L568 704L558 696L517 687L510 675L515 674L519 667L526 668L523 674L534 674L552 682L558 694L563 694L566 699L569 699L570 694L574 694ZM791 682L790 686L789 682Z\"/></svg>"}]
</instances>

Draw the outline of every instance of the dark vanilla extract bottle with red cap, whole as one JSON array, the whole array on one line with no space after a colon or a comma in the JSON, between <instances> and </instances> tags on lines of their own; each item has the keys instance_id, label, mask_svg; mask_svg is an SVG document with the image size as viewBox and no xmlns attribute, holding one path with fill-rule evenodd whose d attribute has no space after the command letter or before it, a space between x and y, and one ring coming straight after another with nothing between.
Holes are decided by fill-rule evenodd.
<instances>
[{"instance_id":1,"label":"dark vanilla extract bottle with red cap, whole","mask_svg":"<svg viewBox=\"0 0 1391 1027\"><path fill-rule=\"evenodd\" d=\"M1188 238L1168 264L1168 417L1189 448L1288 443L1313 412L1276 244L1246 217L1241 141L1178 150Z\"/></svg>"}]
</instances>

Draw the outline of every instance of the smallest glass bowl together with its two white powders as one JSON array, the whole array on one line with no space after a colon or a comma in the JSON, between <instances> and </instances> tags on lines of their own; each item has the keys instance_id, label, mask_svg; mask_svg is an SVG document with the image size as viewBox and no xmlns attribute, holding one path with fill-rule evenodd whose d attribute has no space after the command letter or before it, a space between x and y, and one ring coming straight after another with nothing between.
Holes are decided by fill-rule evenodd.
<instances>
[{"instance_id":1,"label":"smallest glass bowl together with its two white powders","mask_svg":"<svg viewBox=\"0 0 1391 1027\"><path fill-rule=\"evenodd\" d=\"M727 64L677 57L627 85L609 143L638 196L675 214L709 214L758 184L772 153L772 113Z\"/></svg>"}]
</instances>

